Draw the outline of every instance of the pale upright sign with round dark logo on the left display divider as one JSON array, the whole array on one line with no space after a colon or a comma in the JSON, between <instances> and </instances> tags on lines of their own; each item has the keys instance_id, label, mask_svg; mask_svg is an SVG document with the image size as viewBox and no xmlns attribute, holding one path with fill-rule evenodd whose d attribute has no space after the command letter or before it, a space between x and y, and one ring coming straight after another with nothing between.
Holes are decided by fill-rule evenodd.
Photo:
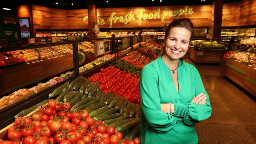
<instances>
[{"instance_id":1,"label":"pale upright sign with round dark logo on the left display divider","mask_svg":"<svg viewBox=\"0 0 256 144\"><path fill-rule=\"evenodd\" d=\"M96 41L95 44L95 57L111 52L111 40Z\"/></svg>"}]
</instances>

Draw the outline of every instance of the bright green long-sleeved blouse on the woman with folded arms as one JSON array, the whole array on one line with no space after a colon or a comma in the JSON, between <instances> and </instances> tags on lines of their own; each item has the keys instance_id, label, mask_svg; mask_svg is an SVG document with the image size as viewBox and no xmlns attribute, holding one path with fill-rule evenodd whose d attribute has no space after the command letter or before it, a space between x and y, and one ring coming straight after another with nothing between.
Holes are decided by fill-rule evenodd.
<instances>
[{"instance_id":1,"label":"bright green long-sleeved blouse on the woman with folded arms","mask_svg":"<svg viewBox=\"0 0 256 144\"><path fill-rule=\"evenodd\" d=\"M211 116L209 96L195 66L180 60L179 91L161 56L143 67L140 79L141 144L197 144L195 125ZM203 92L206 104L190 103ZM160 103L174 103L174 114L161 112Z\"/></svg>"}]
</instances>

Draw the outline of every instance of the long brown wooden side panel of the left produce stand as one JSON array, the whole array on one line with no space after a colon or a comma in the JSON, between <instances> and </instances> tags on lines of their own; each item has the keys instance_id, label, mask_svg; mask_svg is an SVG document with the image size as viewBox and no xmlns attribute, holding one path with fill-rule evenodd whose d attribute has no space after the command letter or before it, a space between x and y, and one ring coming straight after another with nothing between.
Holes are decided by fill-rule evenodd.
<instances>
[{"instance_id":1,"label":"long brown wooden side panel of the left produce stand","mask_svg":"<svg viewBox=\"0 0 256 144\"><path fill-rule=\"evenodd\" d=\"M30 84L49 78L73 68L73 55L45 59L41 62L1 68L0 95L24 88Z\"/></svg>"}]
</instances>

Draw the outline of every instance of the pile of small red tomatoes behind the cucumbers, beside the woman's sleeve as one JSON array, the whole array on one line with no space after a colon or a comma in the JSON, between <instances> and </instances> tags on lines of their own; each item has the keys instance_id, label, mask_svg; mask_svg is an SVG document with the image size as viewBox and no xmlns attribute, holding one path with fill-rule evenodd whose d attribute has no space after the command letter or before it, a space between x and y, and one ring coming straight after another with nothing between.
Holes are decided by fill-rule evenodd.
<instances>
[{"instance_id":1,"label":"pile of small red tomatoes behind the cucumbers, beside the woman's sleeve","mask_svg":"<svg viewBox=\"0 0 256 144\"><path fill-rule=\"evenodd\" d=\"M126 73L115 66L101 68L100 72L89 77L92 82L100 81L100 89L105 93L111 91L117 95L125 96L127 100L133 103L139 103L139 78L132 76L130 72Z\"/></svg>"}]
</instances>

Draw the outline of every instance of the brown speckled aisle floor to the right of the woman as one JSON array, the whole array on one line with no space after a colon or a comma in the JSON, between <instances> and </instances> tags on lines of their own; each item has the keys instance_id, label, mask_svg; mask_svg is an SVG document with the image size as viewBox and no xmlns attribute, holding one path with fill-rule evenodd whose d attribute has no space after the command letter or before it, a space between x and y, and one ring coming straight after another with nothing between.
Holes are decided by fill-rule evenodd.
<instances>
[{"instance_id":1,"label":"brown speckled aisle floor to the right of the woman","mask_svg":"<svg viewBox=\"0 0 256 144\"><path fill-rule=\"evenodd\" d=\"M195 66L212 107L211 117L195 125L199 144L256 144L256 102L223 78L220 66Z\"/></svg>"}]
</instances>

